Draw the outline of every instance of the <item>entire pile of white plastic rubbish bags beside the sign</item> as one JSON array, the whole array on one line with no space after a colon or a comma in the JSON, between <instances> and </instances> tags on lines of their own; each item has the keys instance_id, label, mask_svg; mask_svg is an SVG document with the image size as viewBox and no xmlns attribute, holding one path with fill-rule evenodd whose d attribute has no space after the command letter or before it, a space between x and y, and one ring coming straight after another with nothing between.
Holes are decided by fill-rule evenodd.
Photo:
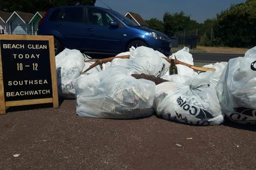
<instances>
[{"instance_id":1,"label":"entire pile of white plastic rubbish bags beside the sign","mask_svg":"<svg viewBox=\"0 0 256 170\"><path fill-rule=\"evenodd\" d=\"M58 94L75 98L79 116L131 119L150 116L190 125L219 125L224 118L242 124L256 124L256 47L244 57L203 66L200 72L176 64L178 74L169 75L177 59L194 65L188 47L170 57L148 47L130 51L107 63L90 68L94 61L78 50L64 49L56 56ZM163 79L155 84L132 75Z\"/></svg>"}]
</instances>

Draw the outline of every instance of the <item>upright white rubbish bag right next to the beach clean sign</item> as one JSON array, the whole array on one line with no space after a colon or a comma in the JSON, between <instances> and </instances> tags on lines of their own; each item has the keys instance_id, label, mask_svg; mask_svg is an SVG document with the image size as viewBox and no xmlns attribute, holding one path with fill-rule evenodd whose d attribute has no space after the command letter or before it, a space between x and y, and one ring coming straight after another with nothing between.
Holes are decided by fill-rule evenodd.
<instances>
[{"instance_id":1,"label":"upright white rubbish bag right next to the beach clean sign","mask_svg":"<svg viewBox=\"0 0 256 170\"><path fill-rule=\"evenodd\" d=\"M64 49L55 57L58 95L75 98L74 85L84 68L84 56L78 50Z\"/></svg>"}]
</instances>

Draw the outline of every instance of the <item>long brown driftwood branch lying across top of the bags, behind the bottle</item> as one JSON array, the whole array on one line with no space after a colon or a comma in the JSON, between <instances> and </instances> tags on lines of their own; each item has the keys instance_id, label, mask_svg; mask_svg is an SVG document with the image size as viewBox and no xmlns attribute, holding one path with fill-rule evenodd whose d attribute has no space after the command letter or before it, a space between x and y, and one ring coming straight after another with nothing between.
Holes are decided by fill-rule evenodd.
<instances>
[{"instance_id":1,"label":"long brown driftwood branch lying across top of the bags, behind the bottle","mask_svg":"<svg viewBox=\"0 0 256 170\"><path fill-rule=\"evenodd\" d=\"M193 66L191 64L187 64L184 63L182 61L179 61L176 59L176 56L174 56L175 59L168 59L168 58L164 58L166 61L168 61L169 63L171 63L172 60L174 60L174 64L182 64L184 66L188 66L189 68L192 68L196 71L202 71L202 72L206 72L206 71L212 71L215 70L214 68L206 68L206 67L198 67L198 66ZM95 62L94 64L90 65L89 68L87 68L86 70L84 70L83 72L81 72L81 74L86 73L87 71L89 71L90 69L98 66L98 65L102 65L103 63L108 63L111 62L112 60L116 59L116 58L120 58L120 59L129 59L130 55L122 55L122 56L117 56L117 57L110 57L110 58L106 58L106 59L94 59L94 60L85 60L84 62Z\"/></svg>"}]
</instances>

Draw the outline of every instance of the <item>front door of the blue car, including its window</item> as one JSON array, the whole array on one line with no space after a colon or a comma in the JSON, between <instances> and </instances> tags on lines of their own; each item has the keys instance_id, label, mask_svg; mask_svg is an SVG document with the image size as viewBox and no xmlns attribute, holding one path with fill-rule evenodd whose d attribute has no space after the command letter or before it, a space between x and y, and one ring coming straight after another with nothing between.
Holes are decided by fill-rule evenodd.
<instances>
[{"instance_id":1,"label":"front door of the blue car, including its window","mask_svg":"<svg viewBox=\"0 0 256 170\"><path fill-rule=\"evenodd\" d=\"M104 10L87 7L87 31L86 39L90 51L103 53L119 53L122 47L124 28L112 27L108 23L114 21L114 17Z\"/></svg>"}]
</instances>

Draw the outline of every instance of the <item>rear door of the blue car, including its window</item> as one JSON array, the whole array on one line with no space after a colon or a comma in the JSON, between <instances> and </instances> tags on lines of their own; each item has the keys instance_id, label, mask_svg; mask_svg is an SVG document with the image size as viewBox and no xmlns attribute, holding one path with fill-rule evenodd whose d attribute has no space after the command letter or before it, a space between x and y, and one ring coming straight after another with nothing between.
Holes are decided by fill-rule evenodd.
<instances>
[{"instance_id":1,"label":"rear door of the blue car, including its window","mask_svg":"<svg viewBox=\"0 0 256 170\"><path fill-rule=\"evenodd\" d=\"M64 47L79 50L86 48L85 10L85 7L65 7L53 17L54 31L60 34L58 38Z\"/></svg>"}]
</instances>

